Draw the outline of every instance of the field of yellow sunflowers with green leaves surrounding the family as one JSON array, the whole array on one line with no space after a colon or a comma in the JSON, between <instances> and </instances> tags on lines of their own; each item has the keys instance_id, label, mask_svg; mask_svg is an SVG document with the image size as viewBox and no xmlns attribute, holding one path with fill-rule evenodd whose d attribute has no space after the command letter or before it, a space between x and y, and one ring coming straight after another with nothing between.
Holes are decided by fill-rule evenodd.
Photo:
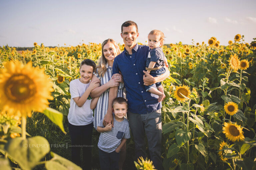
<instances>
[{"instance_id":1,"label":"field of yellow sunflowers with green leaves surrounding the family","mask_svg":"<svg viewBox=\"0 0 256 170\"><path fill-rule=\"evenodd\" d=\"M162 82L165 170L256 169L256 38L243 38L163 46L170 70ZM69 82L80 77L83 59L97 63L101 55L96 43L0 48L0 169L81 169L70 161ZM94 169L98 138L93 131ZM131 138L124 169L153 170L150 158L134 161L133 148Z\"/></svg>"}]
</instances>

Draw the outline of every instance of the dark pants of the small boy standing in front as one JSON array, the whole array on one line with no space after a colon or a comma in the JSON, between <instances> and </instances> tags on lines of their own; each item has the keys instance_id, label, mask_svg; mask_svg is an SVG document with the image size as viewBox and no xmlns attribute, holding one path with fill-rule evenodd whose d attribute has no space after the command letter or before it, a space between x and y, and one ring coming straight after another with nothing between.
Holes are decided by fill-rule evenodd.
<instances>
[{"instance_id":1,"label":"dark pants of the small boy standing in front","mask_svg":"<svg viewBox=\"0 0 256 170\"><path fill-rule=\"evenodd\" d=\"M102 170L118 170L119 153L105 152L99 149L100 168Z\"/></svg>"}]
</instances>

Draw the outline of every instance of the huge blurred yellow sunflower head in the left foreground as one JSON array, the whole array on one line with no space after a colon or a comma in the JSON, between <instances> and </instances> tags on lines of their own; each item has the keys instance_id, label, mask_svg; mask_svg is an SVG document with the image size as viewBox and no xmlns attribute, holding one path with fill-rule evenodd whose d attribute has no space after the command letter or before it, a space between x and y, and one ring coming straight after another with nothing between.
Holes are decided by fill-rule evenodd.
<instances>
[{"instance_id":1,"label":"huge blurred yellow sunflower head in the left foreground","mask_svg":"<svg viewBox=\"0 0 256 170\"><path fill-rule=\"evenodd\" d=\"M44 71L9 61L0 71L0 108L9 115L31 117L31 111L42 112L52 100L52 82Z\"/></svg>"}]
</instances>

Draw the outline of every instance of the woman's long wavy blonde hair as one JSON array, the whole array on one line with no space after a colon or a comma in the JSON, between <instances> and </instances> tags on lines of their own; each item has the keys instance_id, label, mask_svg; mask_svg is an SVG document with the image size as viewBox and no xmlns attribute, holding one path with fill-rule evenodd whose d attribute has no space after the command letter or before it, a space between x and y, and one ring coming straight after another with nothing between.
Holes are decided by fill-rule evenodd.
<instances>
[{"instance_id":1,"label":"woman's long wavy blonde hair","mask_svg":"<svg viewBox=\"0 0 256 170\"><path fill-rule=\"evenodd\" d=\"M101 45L101 53L102 54L101 54L100 59L98 60L98 65L95 68L95 71L96 71L96 69L98 69L98 74L99 74L100 77L103 77L105 72L107 71L106 64L108 63L108 61L107 61L107 59L104 56L103 47L108 42L111 42L112 44L114 44L114 46L116 48L117 55L121 53L119 45L113 39L107 39L104 42L102 42L102 45Z\"/></svg>"}]
</instances>

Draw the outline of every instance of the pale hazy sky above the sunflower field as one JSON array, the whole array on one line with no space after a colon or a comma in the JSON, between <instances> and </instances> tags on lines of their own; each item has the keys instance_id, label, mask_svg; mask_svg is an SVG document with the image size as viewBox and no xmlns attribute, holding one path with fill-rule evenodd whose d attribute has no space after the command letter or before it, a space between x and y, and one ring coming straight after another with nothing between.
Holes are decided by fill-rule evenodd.
<instances>
[{"instance_id":1,"label":"pale hazy sky above the sunflower field","mask_svg":"<svg viewBox=\"0 0 256 170\"><path fill-rule=\"evenodd\" d=\"M0 45L76 46L108 38L123 44L121 25L128 20L137 23L137 42L144 44L155 29L166 44L216 37L227 45L236 34L250 43L256 38L255 6L255 0L0 0Z\"/></svg>"}]
</instances>

